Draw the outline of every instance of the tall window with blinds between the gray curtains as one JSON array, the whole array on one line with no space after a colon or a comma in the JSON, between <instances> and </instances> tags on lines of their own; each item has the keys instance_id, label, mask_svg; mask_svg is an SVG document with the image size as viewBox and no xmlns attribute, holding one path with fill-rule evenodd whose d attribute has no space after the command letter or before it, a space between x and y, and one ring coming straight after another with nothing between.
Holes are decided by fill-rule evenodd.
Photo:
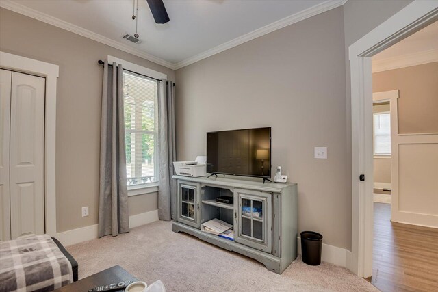
<instances>
[{"instance_id":1,"label":"tall window with blinds between the gray curtains","mask_svg":"<svg viewBox=\"0 0 438 292\"><path fill-rule=\"evenodd\" d=\"M158 181L157 81L123 71L127 185Z\"/></svg>"}]
</instances>

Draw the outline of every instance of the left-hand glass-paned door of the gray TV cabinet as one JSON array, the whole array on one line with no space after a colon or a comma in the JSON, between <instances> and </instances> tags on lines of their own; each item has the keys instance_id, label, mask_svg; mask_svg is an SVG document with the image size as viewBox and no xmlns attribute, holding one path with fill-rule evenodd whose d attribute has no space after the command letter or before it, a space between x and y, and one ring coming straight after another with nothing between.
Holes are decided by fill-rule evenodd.
<instances>
[{"instance_id":1,"label":"left-hand glass-paned door of the gray TV cabinet","mask_svg":"<svg viewBox=\"0 0 438 292\"><path fill-rule=\"evenodd\" d=\"M196 183L178 183L178 221L196 228L199 227L198 189Z\"/></svg>"}]
</instances>

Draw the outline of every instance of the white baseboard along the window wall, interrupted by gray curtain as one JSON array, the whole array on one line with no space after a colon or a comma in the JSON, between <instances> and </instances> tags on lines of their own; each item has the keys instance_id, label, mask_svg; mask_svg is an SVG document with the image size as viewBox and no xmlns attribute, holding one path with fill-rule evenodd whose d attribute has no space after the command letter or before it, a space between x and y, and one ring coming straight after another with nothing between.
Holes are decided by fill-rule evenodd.
<instances>
[{"instance_id":1,"label":"white baseboard along the window wall, interrupted by gray curtain","mask_svg":"<svg viewBox=\"0 0 438 292\"><path fill-rule=\"evenodd\" d=\"M129 228L134 228L155 221L158 221L158 210L132 215L129 216ZM97 224L57 233L55 237L64 246L96 239Z\"/></svg>"}]
</instances>

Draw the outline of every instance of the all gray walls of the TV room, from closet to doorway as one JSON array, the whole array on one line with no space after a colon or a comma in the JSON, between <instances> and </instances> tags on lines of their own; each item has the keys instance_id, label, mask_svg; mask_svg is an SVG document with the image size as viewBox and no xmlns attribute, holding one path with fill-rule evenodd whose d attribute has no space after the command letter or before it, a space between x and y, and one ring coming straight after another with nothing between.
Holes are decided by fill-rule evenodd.
<instances>
[{"instance_id":1,"label":"all gray walls of the TV room, from closet to doorway","mask_svg":"<svg viewBox=\"0 0 438 292\"><path fill-rule=\"evenodd\" d=\"M350 249L351 159L348 46L410 1L349 0L177 70L177 158L205 153L205 132L272 127L272 167L298 183L299 227ZM175 79L175 72L31 18L0 10L0 49L60 65L57 104L58 230L96 224L101 68L114 55ZM347 81L347 82L346 82ZM80 84L80 86L78 85ZM329 159L313 159L328 146ZM156 194L131 211L157 208ZM80 207L90 206L90 217ZM142 207L139 207L142 206Z\"/></svg>"}]
</instances>

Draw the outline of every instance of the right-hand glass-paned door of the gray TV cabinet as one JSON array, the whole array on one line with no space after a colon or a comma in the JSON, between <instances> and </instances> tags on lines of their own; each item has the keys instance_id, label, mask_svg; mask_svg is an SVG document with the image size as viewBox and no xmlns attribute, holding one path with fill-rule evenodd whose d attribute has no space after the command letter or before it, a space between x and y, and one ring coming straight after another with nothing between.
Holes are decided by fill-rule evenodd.
<instances>
[{"instance_id":1,"label":"right-hand glass-paned door of the gray TV cabinet","mask_svg":"<svg viewBox=\"0 0 438 292\"><path fill-rule=\"evenodd\" d=\"M236 242L271 252L272 195L260 191L237 191Z\"/></svg>"}]
</instances>

